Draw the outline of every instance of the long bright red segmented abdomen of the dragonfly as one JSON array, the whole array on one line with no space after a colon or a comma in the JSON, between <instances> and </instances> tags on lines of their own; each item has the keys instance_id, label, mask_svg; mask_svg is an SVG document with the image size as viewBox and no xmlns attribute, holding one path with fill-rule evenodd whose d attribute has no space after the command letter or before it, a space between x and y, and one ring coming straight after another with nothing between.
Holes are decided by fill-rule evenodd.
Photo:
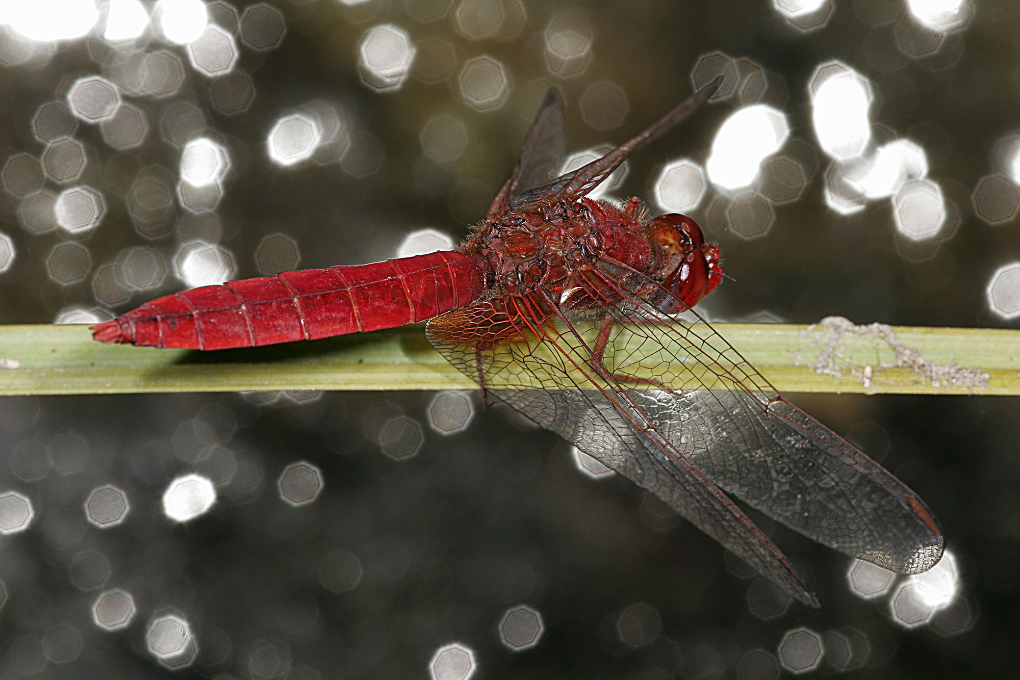
<instances>
[{"instance_id":1,"label":"long bright red segmented abdomen of the dragonfly","mask_svg":"<svg viewBox=\"0 0 1020 680\"><path fill-rule=\"evenodd\" d=\"M102 343L224 350L424 321L477 300L488 264L439 251L183 291L92 327Z\"/></svg>"}]
</instances>

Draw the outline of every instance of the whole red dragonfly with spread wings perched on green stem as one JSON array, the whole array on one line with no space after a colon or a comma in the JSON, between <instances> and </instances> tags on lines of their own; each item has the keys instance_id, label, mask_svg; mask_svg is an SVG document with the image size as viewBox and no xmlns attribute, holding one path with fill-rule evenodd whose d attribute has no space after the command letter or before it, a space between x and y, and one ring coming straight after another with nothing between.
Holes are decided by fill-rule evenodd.
<instances>
[{"instance_id":1,"label":"whole red dragonfly with spread wings perched on green stem","mask_svg":"<svg viewBox=\"0 0 1020 680\"><path fill-rule=\"evenodd\" d=\"M588 198L721 83L555 178L565 119L550 90L457 250L184 291L93 326L94 337L220 350L431 319L428 339L483 396L652 491L796 599L818 606L727 493L847 555L926 571L942 534L917 494L779 396L692 309L722 277L695 221Z\"/></svg>"}]
</instances>

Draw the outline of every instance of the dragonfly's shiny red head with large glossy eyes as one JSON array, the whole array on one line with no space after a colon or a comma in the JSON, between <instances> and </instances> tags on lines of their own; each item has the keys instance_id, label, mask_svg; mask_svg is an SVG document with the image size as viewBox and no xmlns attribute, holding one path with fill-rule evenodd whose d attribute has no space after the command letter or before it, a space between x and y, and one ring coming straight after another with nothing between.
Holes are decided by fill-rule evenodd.
<instances>
[{"instance_id":1,"label":"dragonfly's shiny red head with large glossy eyes","mask_svg":"<svg viewBox=\"0 0 1020 680\"><path fill-rule=\"evenodd\" d=\"M718 246L706 244L701 227L686 215L671 212L653 218L648 237L659 250L653 275L686 307L694 307L722 280ZM669 314L682 311L675 302L666 306L670 309L662 311Z\"/></svg>"}]
</instances>

